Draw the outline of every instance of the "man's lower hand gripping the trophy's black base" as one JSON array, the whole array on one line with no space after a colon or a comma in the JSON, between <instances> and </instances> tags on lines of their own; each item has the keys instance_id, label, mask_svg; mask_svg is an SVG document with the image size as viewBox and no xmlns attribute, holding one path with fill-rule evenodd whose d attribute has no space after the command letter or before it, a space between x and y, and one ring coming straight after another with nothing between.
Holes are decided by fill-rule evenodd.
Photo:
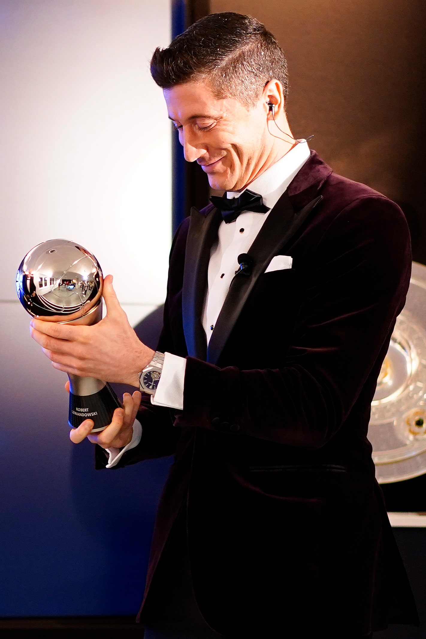
<instances>
[{"instance_id":1,"label":"man's lower hand gripping the trophy's black base","mask_svg":"<svg viewBox=\"0 0 426 639\"><path fill-rule=\"evenodd\" d=\"M70 383L67 381L65 388L70 392ZM132 440L133 423L136 419L141 404L141 393L135 390L133 395L125 393L123 395L123 408L114 410L113 420L109 426L99 433L91 435L93 421L85 419L78 428L72 428L70 431L70 440L73 443L83 442L84 438L88 438L91 443L99 443L102 448L121 448L127 446Z\"/></svg>"}]
</instances>

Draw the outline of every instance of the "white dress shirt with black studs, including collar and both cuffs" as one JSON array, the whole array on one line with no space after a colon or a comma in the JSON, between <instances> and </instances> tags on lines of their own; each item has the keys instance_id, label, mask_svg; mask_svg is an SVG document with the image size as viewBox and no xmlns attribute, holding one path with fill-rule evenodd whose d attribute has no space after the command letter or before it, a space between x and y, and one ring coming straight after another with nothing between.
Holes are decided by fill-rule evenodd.
<instances>
[{"instance_id":1,"label":"white dress shirt with black studs, including collar and both cuffs","mask_svg":"<svg viewBox=\"0 0 426 639\"><path fill-rule=\"evenodd\" d=\"M309 157L308 142L306 140L300 141L246 188L260 194L270 212ZM238 197L244 190L246 189L235 192L228 191L226 195L229 198ZM239 268L237 256L240 253L248 252L269 212L244 211L233 222L228 224L221 222L219 226L217 242L210 250L207 291L203 308L202 321L207 343L209 343L210 335L221 312L223 302L225 302L232 278ZM151 396L152 404L177 408L178 410L184 408L185 366L184 357L178 357L171 353L164 354L161 378L157 390L155 390L155 396ZM116 465L126 450L138 445L142 429L137 420L135 424L132 441L124 449L121 451L113 448L106 449L109 452L107 468Z\"/></svg>"}]
</instances>

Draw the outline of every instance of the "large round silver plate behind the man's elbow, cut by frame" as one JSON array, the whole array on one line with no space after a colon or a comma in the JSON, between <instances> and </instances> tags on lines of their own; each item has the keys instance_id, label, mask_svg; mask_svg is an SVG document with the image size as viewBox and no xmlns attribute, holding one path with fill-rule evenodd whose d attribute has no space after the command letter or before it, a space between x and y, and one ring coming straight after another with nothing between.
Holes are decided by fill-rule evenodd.
<instances>
[{"instance_id":1,"label":"large round silver plate behind the man's elbow, cut by frame","mask_svg":"<svg viewBox=\"0 0 426 639\"><path fill-rule=\"evenodd\" d=\"M426 472L426 266L413 262L372 401L368 439L379 484Z\"/></svg>"}]
</instances>

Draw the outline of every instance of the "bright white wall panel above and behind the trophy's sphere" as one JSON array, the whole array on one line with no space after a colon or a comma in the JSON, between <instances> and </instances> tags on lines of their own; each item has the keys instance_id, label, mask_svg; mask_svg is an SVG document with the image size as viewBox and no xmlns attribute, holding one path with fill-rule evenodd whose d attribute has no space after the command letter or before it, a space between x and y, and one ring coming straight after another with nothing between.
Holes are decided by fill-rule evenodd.
<instances>
[{"instance_id":1,"label":"bright white wall panel above and behind the trophy's sphere","mask_svg":"<svg viewBox=\"0 0 426 639\"><path fill-rule=\"evenodd\" d=\"M0 0L0 299L35 244L75 240L122 302L161 304L170 125L150 77L169 0ZM24 311L22 311L24 312Z\"/></svg>"}]
</instances>

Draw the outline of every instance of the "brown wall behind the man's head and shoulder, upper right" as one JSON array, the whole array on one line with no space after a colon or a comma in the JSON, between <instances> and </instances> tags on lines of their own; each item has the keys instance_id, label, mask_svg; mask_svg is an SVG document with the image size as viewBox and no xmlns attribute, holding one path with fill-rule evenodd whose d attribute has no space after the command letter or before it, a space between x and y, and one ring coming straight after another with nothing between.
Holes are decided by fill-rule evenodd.
<instances>
[{"instance_id":1,"label":"brown wall behind the man's head and shoulder, upper right","mask_svg":"<svg viewBox=\"0 0 426 639\"><path fill-rule=\"evenodd\" d=\"M426 263L425 0L210 0L285 50L288 117L336 173L398 201Z\"/></svg>"}]
</instances>

